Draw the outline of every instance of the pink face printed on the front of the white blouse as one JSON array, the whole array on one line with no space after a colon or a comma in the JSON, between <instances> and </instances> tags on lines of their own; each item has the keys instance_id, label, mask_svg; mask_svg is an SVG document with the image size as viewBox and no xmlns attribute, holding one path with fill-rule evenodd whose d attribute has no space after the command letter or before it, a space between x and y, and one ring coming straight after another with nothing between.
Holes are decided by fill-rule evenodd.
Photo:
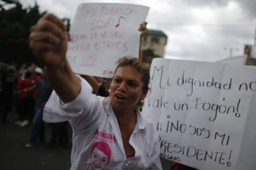
<instances>
[{"instance_id":1,"label":"pink face printed on the front of the white blouse","mask_svg":"<svg viewBox=\"0 0 256 170\"><path fill-rule=\"evenodd\" d=\"M102 170L108 164L108 156L95 148L91 154L91 167L93 170Z\"/></svg>"}]
</instances>

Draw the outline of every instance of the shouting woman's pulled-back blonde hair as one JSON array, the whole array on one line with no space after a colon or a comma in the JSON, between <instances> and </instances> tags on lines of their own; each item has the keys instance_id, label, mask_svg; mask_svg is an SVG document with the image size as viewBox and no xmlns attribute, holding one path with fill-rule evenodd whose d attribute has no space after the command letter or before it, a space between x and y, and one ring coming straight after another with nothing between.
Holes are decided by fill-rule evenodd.
<instances>
[{"instance_id":1,"label":"shouting woman's pulled-back blonde hair","mask_svg":"<svg viewBox=\"0 0 256 170\"><path fill-rule=\"evenodd\" d=\"M124 56L119 58L117 62L116 70L119 67L130 66L134 70L138 71L141 74L142 82L143 82L143 92L147 94L148 90L150 90L150 64L144 63L140 61L138 58L132 58L130 56ZM116 72L115 70L115 72ZM143 103L139 102L138 106L142 107Z\"/></svg>"}]
</instances>

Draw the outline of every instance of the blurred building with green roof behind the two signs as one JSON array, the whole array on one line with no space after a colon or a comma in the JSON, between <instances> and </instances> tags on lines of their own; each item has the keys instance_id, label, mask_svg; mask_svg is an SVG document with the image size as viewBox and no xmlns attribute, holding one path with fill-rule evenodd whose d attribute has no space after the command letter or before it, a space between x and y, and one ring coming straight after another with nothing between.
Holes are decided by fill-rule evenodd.
<instances>
[{"instance_id":1,"label":"blurred building with green roof behind the two signs","mask_svg":"<svg viewBox=\"0 0 256 170\"><path fill-rule=\"evenodd\" d=\"M163 57L168 36L160 30L148 30L141 43L143 61L151 63L153 58Z\"/></svg>"}]
</instances>

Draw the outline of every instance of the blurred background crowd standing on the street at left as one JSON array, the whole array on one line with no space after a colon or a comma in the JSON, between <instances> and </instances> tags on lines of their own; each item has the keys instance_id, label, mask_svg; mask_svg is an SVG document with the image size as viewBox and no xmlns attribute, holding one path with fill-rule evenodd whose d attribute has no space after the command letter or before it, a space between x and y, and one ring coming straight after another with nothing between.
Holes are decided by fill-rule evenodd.
<instances>
[{"instance_id":1,"label":"blurred background crowd standing on the street at left","mask_svg":"<svg viewBox=\"0 0 256 170\"><path fill-rule=\"evenodd\" d=\"M21 128L31 125L27 148L45 144L45 123L42 120L43 108L52 88L49 85L45 70L31 64L19 68L13 65L2 65L0 68L0 119L4 124L10 113L18 114L15 122ZM51 140L47 147L69 147L68 122L52 123Z\"/></svg>"}]
</instances>

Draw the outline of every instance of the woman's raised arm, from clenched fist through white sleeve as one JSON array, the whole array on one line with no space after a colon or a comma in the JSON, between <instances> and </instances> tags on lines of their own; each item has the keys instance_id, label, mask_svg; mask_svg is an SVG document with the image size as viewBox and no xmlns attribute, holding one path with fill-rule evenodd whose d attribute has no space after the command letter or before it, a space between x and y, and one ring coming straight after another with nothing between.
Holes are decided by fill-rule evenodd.
<instances>
[{"instance_id":1,"label":"woman's raised arm, from clenched fist through white sleeve","mask_svg":"<svg viewBox=\"0 0 256 170\"><path fill-rule=\"evenodd\" d=\"M71 121L74 129L99 122L102 119L99 100L103 99L91 94L88 82L72 71L66 57L68 34L63 21L53 14L45 14L32 27L29 46L44 63L46 78L54 89L45 104L43 120Z\"/></svg>"}]
</instances>

